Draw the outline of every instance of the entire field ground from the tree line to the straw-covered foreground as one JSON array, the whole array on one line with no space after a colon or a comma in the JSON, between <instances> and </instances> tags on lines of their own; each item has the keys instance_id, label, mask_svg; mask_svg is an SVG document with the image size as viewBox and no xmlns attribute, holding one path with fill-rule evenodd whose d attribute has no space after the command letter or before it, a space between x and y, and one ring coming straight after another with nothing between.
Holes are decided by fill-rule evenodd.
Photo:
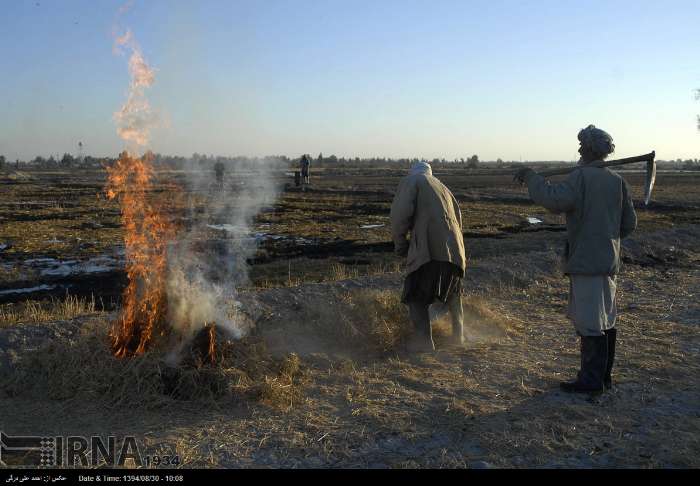
<instances>
[{"instance_id":1,"label":"entire field ground from the tree line to the straw-covered foreground","mask_svg":"<svg viewBox=\"0 0 700 486\"><path fill-rule=\"evenodd\" d=\"M435 354L405 352L388 221L401 175L316 171L307 191L277 175L240 297L250 349L262 346L269 366L241 364L233 393L196 400L156 399L138 375L133 388L109 387L88 369L102 357L122 366L95 339L125 284L104 175L0 176L0 430L134 435L186 467L700 466L700 175L659 174L654 202L638 209L619 276L615 386L597 398L558 389L579 359L558 271L563 218L507 176L435 171L463 212L468 343L447 346L438 323ZM643 175L625 177L639 207ZM205 248L227 237L211 230ZM82 304L50 301L66 291ZM17 386L27 363L46 364L37 355L59 354L65 368L39 372L81 386Z\"/></svg>"}]
</instances>

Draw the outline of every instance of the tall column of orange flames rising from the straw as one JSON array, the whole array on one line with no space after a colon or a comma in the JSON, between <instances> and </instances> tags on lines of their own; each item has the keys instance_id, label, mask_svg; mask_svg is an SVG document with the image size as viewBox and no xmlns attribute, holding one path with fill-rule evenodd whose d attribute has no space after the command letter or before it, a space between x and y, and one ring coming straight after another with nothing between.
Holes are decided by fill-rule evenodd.
<instances>
[{"instance_id":1,"label":"tall column of orange flames rising from the straw","mask_svg":"<svg viewBox=\"0 0 700 486\"><path fill-rule=\"evenodd\" d=\"M126 9L129 6L125 7ZM120 14L123 13L120 11ZM114 114L119 136L132 153L135 147L148 144L150 130L157 117L151 110L145 92L155 81L155 72L144 59L133 34L127 30L115 34L115 53L129 49L131 82L124 105ZM122 312L112 326L112 351L117 357L143 354L156 334L166 334L168 278L168 243L175 236L175 227L166 218L164 203L153 201L153 155L139 158L127 151L107 169L105 191L109 199L117 199L121 207L126 246L126 271L129 283L124 291ZM170 191L170 194L173 194ZM179 191L173 194L178 197ZM206 323L203 323L206 324ZM215 331L209 329L209 356L215 362Z\"/></svg>"}]
</instances>

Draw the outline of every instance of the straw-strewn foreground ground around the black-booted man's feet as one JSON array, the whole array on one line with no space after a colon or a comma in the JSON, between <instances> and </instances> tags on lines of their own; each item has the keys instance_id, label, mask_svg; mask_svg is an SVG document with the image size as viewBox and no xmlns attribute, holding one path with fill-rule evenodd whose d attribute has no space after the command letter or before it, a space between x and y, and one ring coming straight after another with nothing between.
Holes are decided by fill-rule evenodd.
<instances>
[{"instance_id":1,"label":"straw-strewn foreground ground around the black-booted man's feet","mask_svg":"<svg viewBox=\"0 0 700 486\"><path fill-rule=\"evenodd\" d=\"M621 277L616 386L596 400L558 392L558 381L575 374L579 359L562 312L566 281L560 278L465 298L467 328L476 321L488 323L484 328L504 329L507 339L469 341L464 349L438 346L437 353L420 356L364 353L348 359L331 354L302 360L294 355L273 359L261 340L248 338L234 343L240 347L222 350L221 370L195 367L181 373L187 375L181 389L191 386L185 395L196 395L186 400L149 388L162 383L154 372L155 355L105 360L95 351L104 344L94 336L97 342L86 341L71 350L81 353L71 354L95 358L59 359L66 348L48 355L57 366L68 360L82 367L81 374L52 372L69 387L69 395L83 397L81 404L89 397L110 407L90 411L90 424L104 424L103 433L136 434L151 452L175 451L185 467L472 467L482 462L496 467L697 467L700 336L692 319L700 275L693 270L660 277L653 269ZM673 298L652 298L660 288L676 289ZM291 335L323 332L356 349L400 347L408 320L398 292L341 290L338 304L324 295L322 313L313 300L298 310L297 319L307 327L288 320L283 327ZM91 366L96 370L90 372ZM32 390L35 376L23 382L27 389L21 395L0 401L0 425L12 433L54 422L66 433L83 430L80 407L47 399L35 399L38 411L18 407L22 396L38 398L47 389L36 385ZM221 381L216 378L221 376ZM72 383L77 380L83 384ZM216 384L233 392L220 394ZM49 391L66 400L60 386ZM113 400L122 406L114 407ZM161 406L155 408L158 401ZM119 408L129 417L113 415Z\"/></svg>"}]
</instances>

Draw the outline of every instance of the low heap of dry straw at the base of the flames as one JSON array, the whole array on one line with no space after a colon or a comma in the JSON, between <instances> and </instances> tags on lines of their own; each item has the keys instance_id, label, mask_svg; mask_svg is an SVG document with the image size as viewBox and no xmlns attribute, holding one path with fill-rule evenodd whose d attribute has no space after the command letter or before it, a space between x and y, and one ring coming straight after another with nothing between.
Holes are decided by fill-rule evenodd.
<instances>
[{"instance_id":1,"label":"low heap of dry straw at the base of the flames","mask_svg":"<svg viewBox=\"0 0 700 486\"><path fill-rule=\"evenodd\" d=\"M295 403L303 375L297 356L272 358L256 338L219 339L215 365L169 365L165 345L118 359L110 352L108 326L93 321L73 340L27 353L13 373L0 376L0 390L8 397L88 400L110 409L160 409L178 401L255 399L281 409Z\"/></svg>"}]
</instances>

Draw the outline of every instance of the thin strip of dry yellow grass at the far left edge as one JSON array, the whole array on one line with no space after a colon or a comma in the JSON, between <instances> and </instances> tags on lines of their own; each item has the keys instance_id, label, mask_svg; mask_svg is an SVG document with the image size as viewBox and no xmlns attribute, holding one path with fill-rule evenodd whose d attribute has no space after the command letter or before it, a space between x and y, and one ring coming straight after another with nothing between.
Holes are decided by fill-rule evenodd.
<instances>
[{"instance_id":1,"label":"thin strip of dry yellow grass at the far left edge","mask_svg":"<svg viewBox=\"0 0 700 486\"><path fill-rule=\"evenodd\" d=\"M0 327L67 320L99 312L94 296L81 299L67 295L65 299L51 299L49 302L27 301L19 306L0 306Z\"/></svg>"}]
</instances>

